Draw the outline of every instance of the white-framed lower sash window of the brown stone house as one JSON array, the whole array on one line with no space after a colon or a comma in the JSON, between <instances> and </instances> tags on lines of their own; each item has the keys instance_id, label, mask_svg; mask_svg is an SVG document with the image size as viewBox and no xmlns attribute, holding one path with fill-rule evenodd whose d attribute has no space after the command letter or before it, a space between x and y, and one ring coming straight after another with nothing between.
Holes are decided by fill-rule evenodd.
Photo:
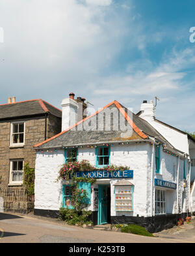
<instances>
[{"instance_id":1,"label":"white-framed lower sash window of the brown stone house","mask_svg":"<svg viewBox=\"0 0 195 256\"><path fill-rule=\"evenodd\" d=\"M23 160L10 161L10 184L22 184L23 182Z\"/></svg>"}]
</instances>

